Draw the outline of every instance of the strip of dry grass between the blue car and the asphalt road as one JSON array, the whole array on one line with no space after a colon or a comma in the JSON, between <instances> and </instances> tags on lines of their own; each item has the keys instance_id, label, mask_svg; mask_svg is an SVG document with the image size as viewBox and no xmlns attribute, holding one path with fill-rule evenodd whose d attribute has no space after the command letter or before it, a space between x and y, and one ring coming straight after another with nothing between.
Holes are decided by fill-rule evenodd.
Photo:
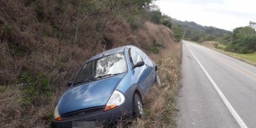
<instances>
[{"instance_id":1,"label":"strip of dry grass between the blue car and the asphalt road","mask_svg":"<svg viewBox=\"0 0 256 128\"><path fill-rule=\"evenodd\" d=\"M181 44L171 42L158 55L152 55L158 63L161 87L152 86L145 99L144 120L137 120L131 127L175 127L175 106L179 90Z\"/></svg>"}]
</instances>

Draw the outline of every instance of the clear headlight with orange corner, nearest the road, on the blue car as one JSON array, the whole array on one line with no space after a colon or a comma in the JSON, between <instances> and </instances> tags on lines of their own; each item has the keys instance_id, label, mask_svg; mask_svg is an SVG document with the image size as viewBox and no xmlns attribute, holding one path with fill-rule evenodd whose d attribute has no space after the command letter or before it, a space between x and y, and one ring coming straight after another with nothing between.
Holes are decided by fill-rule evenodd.
<instances>
[{"instance_id":1,"label":"clear headlight with orange corner, nearest the road, on the blue car","mask_svg":"<svg viewBox=\"0 0 256 128\"><path fill-rule=\"evenodd\" d=\"M116 108L117 106L120 106L124 103L124 95L122 92L119 92L118 90L115 90L111 97L108 100L108 103L106 105L106 108L104 111L108 111L110 109Z\"/></svg>"}]
</instances>

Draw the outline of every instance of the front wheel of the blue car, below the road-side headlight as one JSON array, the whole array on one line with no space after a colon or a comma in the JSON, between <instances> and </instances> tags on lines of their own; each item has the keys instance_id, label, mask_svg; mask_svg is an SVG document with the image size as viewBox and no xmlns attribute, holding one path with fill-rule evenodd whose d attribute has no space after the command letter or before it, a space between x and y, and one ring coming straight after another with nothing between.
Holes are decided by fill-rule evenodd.
<instances>
[{"instance_id":1,"label":"front wheel of the blue car, below the road-side headlight","mask_svg":"<svg viewBox=\"0 0 256 128\"><path fill-rule=\"evenodd\" d=\"M144 111L143 111L143 102L140 99L140 96L135 93L133 97L133 115L134 117L143 118Z\"/></svg>"}]
</instances>

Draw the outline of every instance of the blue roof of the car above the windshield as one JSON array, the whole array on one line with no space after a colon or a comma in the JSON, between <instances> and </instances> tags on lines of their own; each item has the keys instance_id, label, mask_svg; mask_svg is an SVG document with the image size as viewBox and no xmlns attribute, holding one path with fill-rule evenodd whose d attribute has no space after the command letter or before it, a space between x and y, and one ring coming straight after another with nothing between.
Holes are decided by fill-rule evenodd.
<instances>
[{"instance_id":1,"label":"blue roof of the car above the windshield","mask_svg":"<svg viewBox=\"0 0 256 128\"><path fill-rule=\"evenodd\" d=\"M102 56L108 56L109 54L115 54L115 53L118 53L118 52L124 52L124 50L129 48L129 47L135 47L135 46L134 45L125 45L125 46L122 46L122 47L116 47L114 49L110 49L108 51L101 52L101 53L93 56L92 58L90 58L86 62L92 61L92 60L96 60L98 58L102 58Z\"/></svg>"}]
</instances>

